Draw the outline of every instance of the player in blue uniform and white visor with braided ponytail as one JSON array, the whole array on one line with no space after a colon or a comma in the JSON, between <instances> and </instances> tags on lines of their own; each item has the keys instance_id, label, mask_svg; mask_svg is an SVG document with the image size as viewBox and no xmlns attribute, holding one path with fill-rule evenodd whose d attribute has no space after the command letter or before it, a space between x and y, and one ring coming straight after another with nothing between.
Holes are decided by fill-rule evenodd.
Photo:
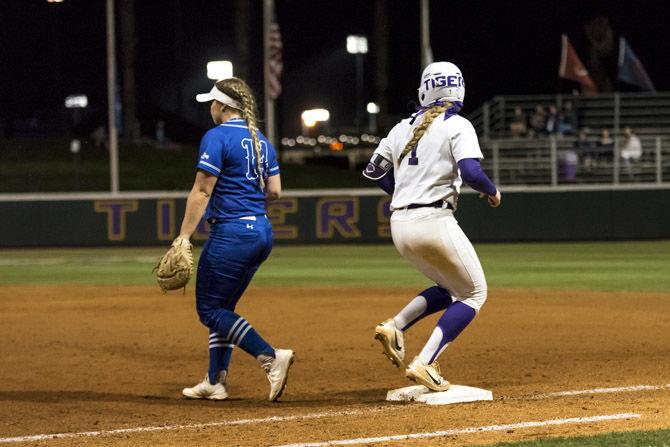
<instances>
[{"instance_id":1,"label":"player in blue uniform and white visor with braided ponytail","mask_svg":"<svg viewBox=\"0 0 670 447\"><path fill-rule=\"evenodd\" d=\"M209 371L183 394L193 399L228 397L226 378L234 346L256 358L270 381L269 400L279 398L293 363L293 351L274 349L235 306L272 250L266 200L279 197L281 180L275 149L256 127L256 102L237 78L218 81L209 93L216 127L200 143L195 183L186 201L181 238L187 240L203 214L211 225L196 279L196 308L209 328Z\"/></svg>"}]
</instances>

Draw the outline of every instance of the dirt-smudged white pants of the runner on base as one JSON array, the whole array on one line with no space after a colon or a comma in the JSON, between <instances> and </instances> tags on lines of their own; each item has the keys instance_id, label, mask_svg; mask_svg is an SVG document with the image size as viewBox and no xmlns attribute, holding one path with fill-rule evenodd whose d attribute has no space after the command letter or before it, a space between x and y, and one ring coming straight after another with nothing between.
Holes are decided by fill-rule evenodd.
<instances>
[{"instance_id":1,"label":"dirt-smudged white pants of the runner on base","mask_svg":"<svg viewBox=\"0 0 670 447\"><path fill-rule=\"evenodd\" d=\"M479 312L486 301L486 279L477 253L453 211L440 208L397 210L391 235L400 254L456 301Z\"/></svg>"}]
</instances>

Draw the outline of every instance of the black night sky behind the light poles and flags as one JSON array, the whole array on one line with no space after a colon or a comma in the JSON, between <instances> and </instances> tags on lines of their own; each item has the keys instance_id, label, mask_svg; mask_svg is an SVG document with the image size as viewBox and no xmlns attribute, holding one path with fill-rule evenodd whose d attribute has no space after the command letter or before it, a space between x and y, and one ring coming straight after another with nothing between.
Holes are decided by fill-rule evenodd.
<instances>
[{"instance_id":1,"label":"black night sky behind the light poles and flags","mask_svg":"<svg viewBox=\"0 0 670 447\"><path fill-rule=\"evenodd\" d=\"M248 81L262 104L262 2L250 1ZM5 127L37 117L43 132L57 132L59 123L67 120L63 99L72 93L89 97L84 127L104 123L104 3L2 2L0 114ZM117 8L119 4L117 0ZM153 123L162 118L168 121L168 135L189 140L210 125L208 107L192 100L196 93L211 88L206 62L229 59L235 64L238 58L233 2L135 0L135 4L143 130L151 134ZM281 135L299 131L300 112L306 108L328 108L335 129L352 123L355 63L346 52L345 40L348 34L372 35L372 4L276 0L284 43L284 93L277 104ZM387 9L390 85L386 100L389 112L399 117L411 109L421 72L419 1L389 0ZM588 67L584 25L596 16L609 19L615 51L623 35L656 88L670 90L670 6L664 1L432 0L431 43L436 60L452 61L463 71L467 114L494 95L569 91L570 85L557 79L560 35L568 33ZM118 39L117 33L120 47ZM119 71L122 64L120 55ZM368 54L365 102L373 99L374 70Z\"/></svg>"}]
</instances>

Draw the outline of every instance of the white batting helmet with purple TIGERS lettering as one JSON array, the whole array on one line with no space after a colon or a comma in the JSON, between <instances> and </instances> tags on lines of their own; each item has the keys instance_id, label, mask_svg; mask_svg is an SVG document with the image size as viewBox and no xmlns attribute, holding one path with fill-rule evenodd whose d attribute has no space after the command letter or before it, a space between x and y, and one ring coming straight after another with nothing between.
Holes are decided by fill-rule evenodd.
<instances>
[{"instance_id":1,"label":"white batting helmet with purple TIGERS lettering","mask_svg":"<svg viewBox=\"0 0 670 447\"><path fill-rule=\"evenodd\" d=\"M418 90L422 107L437 100L463 102L465 81L460 68L451 62L433 62L423 70Z\"/></svg>"}]
</instances>

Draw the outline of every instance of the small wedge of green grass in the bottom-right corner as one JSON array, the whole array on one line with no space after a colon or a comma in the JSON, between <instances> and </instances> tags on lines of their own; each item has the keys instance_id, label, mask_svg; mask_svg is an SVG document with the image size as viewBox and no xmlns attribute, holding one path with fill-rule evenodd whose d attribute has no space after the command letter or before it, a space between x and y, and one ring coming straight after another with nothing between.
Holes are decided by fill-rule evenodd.
<instances>
[{"instance_id":1,"label":"small wedge of green grass in the bottom-right corner","mask_svg":"<svg viewBox=\"0 0 670 447\"><path fill-rule=\"evenodd\" d=\"M608 433L574 438L486 444L487 447L670 447L670 430Z\"/></svg>"}]
</instances>

